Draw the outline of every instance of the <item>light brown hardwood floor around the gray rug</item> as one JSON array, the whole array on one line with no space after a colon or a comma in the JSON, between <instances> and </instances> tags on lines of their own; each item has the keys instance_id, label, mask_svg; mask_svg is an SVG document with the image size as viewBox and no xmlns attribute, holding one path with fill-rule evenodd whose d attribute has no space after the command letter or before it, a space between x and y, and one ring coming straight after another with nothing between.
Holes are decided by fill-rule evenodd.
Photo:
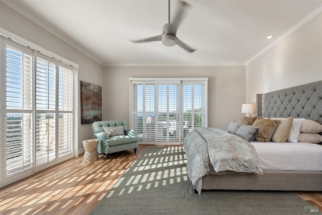
<instances>
[{"instance_id":1,"label":"light brown hardwood floor around the gray rug","mask_svg":"<svg viewBox=\"0 0 322 215\"><path fill-rule=\"evenodd\" d=\"M160 146L140 145L136 155L128 150L93 163L81 155L3 187L0 214L88 214L147 147ZM297 195L322 210L322 192Z\"/></svg>"}]
</instances>

